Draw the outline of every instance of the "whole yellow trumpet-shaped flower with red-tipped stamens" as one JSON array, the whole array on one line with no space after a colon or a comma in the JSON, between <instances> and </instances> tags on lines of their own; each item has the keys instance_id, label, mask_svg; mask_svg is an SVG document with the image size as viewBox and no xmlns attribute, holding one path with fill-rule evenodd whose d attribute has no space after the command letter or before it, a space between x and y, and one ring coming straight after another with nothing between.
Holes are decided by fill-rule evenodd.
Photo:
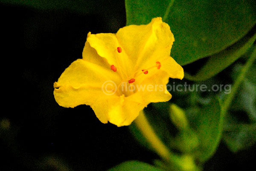
<instances>
[{"instance_id":1,"label":"whole yellow trumpet-shaped flower with red-tipped stamens","mask_svg":"<svg viewBox=\"0 0 256 171\"><path fill-rule=\"evenodd\" d=\"M82 59L54 83L56 102L71 108L90 105L102 123L130 125L149 103L171 99L169 77L183 79L183 68L170 57L173 42L161 17L116 34L89 32Z\"/></svg>"}]
</instances>

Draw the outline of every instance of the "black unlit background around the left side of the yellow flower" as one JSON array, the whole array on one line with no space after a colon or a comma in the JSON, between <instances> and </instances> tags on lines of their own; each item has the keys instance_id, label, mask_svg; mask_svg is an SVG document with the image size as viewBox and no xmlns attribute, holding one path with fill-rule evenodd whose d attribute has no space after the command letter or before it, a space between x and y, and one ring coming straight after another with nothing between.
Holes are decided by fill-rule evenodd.
<instances>
[{"instance_id":1,"label":"black unlit background around the left side of the yellow flower","mask_svg":"<svg viewBox=\"0 0 256 171\"><path fill-rule=\"evenodd\" d=\"M81 58L87 33L115 33L125 26L124 1L106 2L92 4L98 11L90 13L0 3L0 120L10 123L0 130L0 171L58 170L58 163L97 171L126 160L157 159L128 127L102 124L89 106L63 108L54 100L53 83ZM221 142L205 170L253 166L255 149L233 154Z\"/></svg>"}]
</instances>

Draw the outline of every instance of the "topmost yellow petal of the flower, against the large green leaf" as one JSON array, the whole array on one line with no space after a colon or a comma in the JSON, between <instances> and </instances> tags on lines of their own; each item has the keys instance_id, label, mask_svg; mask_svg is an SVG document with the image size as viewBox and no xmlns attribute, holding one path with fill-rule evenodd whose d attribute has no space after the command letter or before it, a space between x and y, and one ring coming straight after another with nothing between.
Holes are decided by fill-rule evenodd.
<instances>
[{"instance_id":1,"label":"topmost yellow petal of the flower, against the large green leaf","mask_svg":"<svg viewBox=\"0 0 256 171\"><path fill-rule=\"evenodd\" d=\"M169 56L174 42L169 25L163 23L161 17L153 18L147 25L120 28L116 37L134 65L136 64L135 70L143 68L142 65L147 60L154 65L155 58Z\"/></svg>"}]
</instances>

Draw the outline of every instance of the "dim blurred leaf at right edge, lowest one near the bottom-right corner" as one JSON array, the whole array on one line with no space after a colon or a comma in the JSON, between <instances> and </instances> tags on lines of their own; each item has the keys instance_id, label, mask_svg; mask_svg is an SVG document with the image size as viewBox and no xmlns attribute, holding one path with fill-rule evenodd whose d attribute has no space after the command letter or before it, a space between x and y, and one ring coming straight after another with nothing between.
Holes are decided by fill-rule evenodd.
<instances>
[{"instance_id":1,"label":"dim blurred leaf at right edge, lowest one near the bottom-right corner","mask_svg":"<svg viewBox=\"0 0 256 171\"><path fill-rule=\"evenodd\" d=\"M248 148L256 142L256 124L231 124L224 128L223 139L231 151Z\"/></svg>"}]
</instances>

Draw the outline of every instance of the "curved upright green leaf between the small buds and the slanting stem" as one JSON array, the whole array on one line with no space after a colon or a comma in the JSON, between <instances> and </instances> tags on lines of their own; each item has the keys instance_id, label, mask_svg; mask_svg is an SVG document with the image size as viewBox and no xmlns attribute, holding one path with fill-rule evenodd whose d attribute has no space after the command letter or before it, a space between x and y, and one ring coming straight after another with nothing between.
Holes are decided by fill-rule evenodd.
<instances>
[{"instance_id":1,"label":"curved upright green leaf between the small buds and the slanting stem","mask_svg":"<svg viewBox=\"0 0 256 171\"><path fill-rule=\"evenodd\" d=\"M195 151L195 157L199 161L204 162L214 154L221 140L223 119L224 114L221 112L217 97L201 108L194 123L200 142L197 151Z\"/></svg>"}]
</instances>

